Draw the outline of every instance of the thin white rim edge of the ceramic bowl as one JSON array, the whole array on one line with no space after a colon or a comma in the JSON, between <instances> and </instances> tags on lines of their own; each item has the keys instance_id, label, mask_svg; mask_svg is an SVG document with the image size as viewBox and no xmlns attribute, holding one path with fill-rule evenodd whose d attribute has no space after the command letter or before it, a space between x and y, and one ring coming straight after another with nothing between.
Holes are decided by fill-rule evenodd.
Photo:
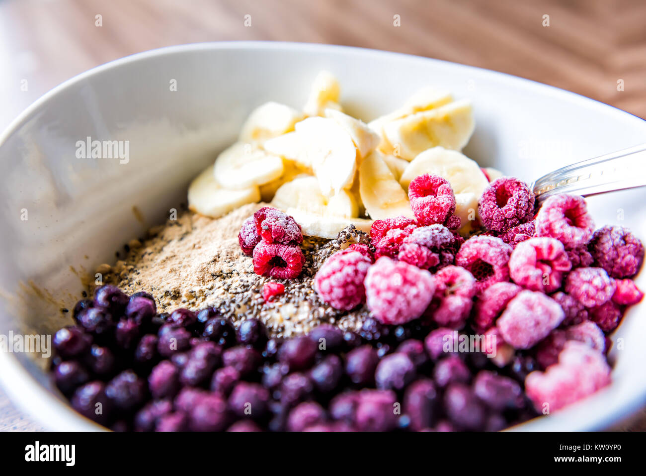
<instances>
[{"instance_id":1,"label":"thin white rim edge of the ceramic bowl","mask_svg":"<svg viewBox=\"0 0 646 476\"><path fill-rule=\"evenodd\" d=\"M79 82L86 80L92 76L101 74L105 70L115 67L121 67L134 63L137 61L147 60L148 58L156 58L161 56L182 54L183 52L194 52L200 50L254 50L256 52L262 50L271 51L284 51L293 52L295 50L308 50L309 52L335 52L337 54L358 54L361 56L372 56L379 58L407 58L408 61L419 61L423 63L435 63L450 67L459 72L471 72L480 77L492 78L497 83L513 85L524 85L527 88L547 94L547 96L559 96L563 100L567 100L572 105L583 105L585 107L594 106L596 109L601 110L605 114L610 114L617 120L629 120L634 122L641 122L646 125L646 120L636 116L635 114L623 111L618 107L600 102L598 100L587 98L576 92L567 91L558 87L540 83L539 81L528 80L520 76L514 76L505 72L500 72L492 69L485 69L482 67L463 65L461 63L453 63L452 61L438 60L436 58L426 58L424 56L417 56L413 54L391 52L377 49L368 49L362 47L349 47L344 45L326 45L322 43L298 43L290 41L208 41L202 43L184 43L181 45L173 45L168 47L161 47L143 52L137 52L109 61L102 65L98 65L92 69L86 70L63 81L56 85L49 91L45 92L42 96L32 102L22 113L20 113L10 124L8 124L4 131L0 133L0 146L12 136L25 122L35 114L43 105L45 105L51 98L74 87ZM603 151L601 151L603 152ZM35 420L43 424L49 429L63 430L63 431L101 431L105 427L100 426L89 418L79 415L70 407L67 402L64 402L55 393L52 393L47 387L41 385L36 378L30 373L28 368L23 365L23 362L13 354L7 352L0 352L0 385L5 393L10 396L10 400L21 410L25 411ZM599 392L602 393L603 391ZM578 419L578 425L570 425L564 427L559 425L557 418L535 418L523 424L509 428L511 431L545 431L545 430L560 430L560 431L590 431L605 429L612 424L616 424L621 420L629 418L634 415L646 403L646 378L641 382L641 386L633 389L632 395L627 397L622 406L616 406L610 409L603 416L596 418L594 421L583 421ZM596 396L596 395L595 395ZM594 400L595 396L586 399ZM34 406L47 400L50 406L53 406L53 411L48 416L47 421L39 416L38 412L32 411ZM578 406L572 406L577 407ZM573 408L574 409L574 408ZM547 421L549 420L549 421ZM556 420L556 421L555 421Z\"/></svg>"}]
</instances>

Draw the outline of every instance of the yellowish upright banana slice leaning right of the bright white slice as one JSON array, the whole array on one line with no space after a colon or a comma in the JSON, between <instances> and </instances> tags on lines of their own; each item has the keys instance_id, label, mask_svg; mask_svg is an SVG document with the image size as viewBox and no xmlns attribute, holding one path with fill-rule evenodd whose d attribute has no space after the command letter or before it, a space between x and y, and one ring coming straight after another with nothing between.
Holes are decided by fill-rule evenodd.
<instances>
[{"instance_id":1,"label":"yellowish upright banana slice leaning right of the bright white slice","mask_svg":"<svg viewBox=\"0 0 646 476\"><path fill-rule=\"evenodd\" d=\"M404 215L413 218L408 195L395 179L379 151L364 158L359 167L359 193L373 220Z\"/></svg>"}]
</instances>

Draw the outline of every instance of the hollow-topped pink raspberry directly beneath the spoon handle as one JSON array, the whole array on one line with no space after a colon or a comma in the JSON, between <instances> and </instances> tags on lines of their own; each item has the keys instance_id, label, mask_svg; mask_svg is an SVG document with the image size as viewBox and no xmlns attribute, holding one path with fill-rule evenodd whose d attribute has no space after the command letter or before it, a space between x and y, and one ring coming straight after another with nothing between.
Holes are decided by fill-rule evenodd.
<instances>
[{"instance_id":1,"label":"hollow-topped pink raspberry directly beneath the spoon handle","mask_svg":"<svg viewBox=\"0 0 646 476\"><path fill-rule=\"evenodd\" d=\"M594 221L579 195L549 197L536 215L536 236L556 238L568 248L588 243L593 231Z\"/></svg>"}]
</instances>

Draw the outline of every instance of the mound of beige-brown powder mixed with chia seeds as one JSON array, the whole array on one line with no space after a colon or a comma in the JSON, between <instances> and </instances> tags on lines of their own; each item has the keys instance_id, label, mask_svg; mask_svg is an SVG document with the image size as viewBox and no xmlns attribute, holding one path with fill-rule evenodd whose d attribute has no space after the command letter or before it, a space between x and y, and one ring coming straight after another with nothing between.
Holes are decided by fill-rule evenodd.
<instances>
[{"instance_id":1,"label":"mound of beige-brown powder mixed with chia seeds","mask_svg":"<svg viewBox=\"0 0 646 476\"><path fill-rule=\"evenodd\" d=\"M157 303L158 312L176 308L217 308L234 323L261 319L273 336L303 334L319 323L336 323L342 329L359 329L366 308L339 312L322 303L312 288L315 257L329 250L329 240L306 237L303 272L297 279L257 276L251 257L242 253L238 232L242 222L266 204L249 204L220 219L191 211L149 231L143 243L132 241L125 259L114 266L101 265L103 282L117 285L127 294L145 291ZM326 247L326 243L329 243ZM285 293L270 302L262 297L267 281L285 285Z\"/></svg>"}]
</instances>

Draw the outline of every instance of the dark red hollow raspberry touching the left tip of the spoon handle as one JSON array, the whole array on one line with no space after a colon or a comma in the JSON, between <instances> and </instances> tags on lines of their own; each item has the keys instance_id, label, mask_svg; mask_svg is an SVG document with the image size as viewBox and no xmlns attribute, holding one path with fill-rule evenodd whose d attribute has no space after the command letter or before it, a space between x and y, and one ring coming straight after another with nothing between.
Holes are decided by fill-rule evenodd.
<instances>
[{"instance_id":1,"label":"dark red hollow raspberry touching the left tip of the spoon handle","mask_svg":"<svg viewBox=\"0 0 646 476\"><path fill-rule=\"evenodd\" d=\"M525 182L500 177L485 188L478 213L485 228L503 232L532 218L534 200L534 193Z\"/></svg>"}]
</instances>

